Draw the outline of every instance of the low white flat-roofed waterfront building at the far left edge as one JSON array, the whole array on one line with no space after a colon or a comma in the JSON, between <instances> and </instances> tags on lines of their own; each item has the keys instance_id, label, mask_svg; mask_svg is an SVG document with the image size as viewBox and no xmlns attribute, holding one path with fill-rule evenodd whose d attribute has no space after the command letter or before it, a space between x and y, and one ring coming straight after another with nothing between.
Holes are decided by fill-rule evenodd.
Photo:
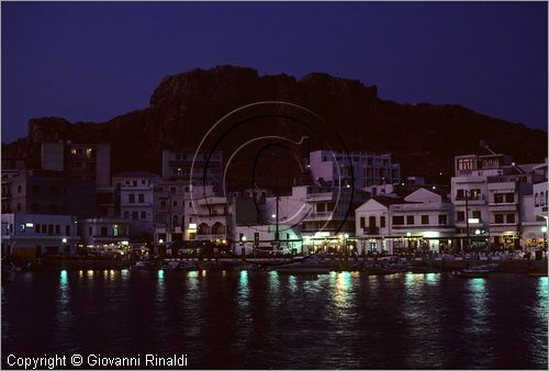
<instances>
[{"instance_id":1,"label":"low white flat-roofed waterfront building at the far left edge","mask_svg":"<svg viewBox=\"0 0 549 371\"><path fill-rule=\"evenodd\" d=\"M75 254L79 240L71 215L2 213L2 256L34 259L43 255Z\"/></svg>"}]
</instances>

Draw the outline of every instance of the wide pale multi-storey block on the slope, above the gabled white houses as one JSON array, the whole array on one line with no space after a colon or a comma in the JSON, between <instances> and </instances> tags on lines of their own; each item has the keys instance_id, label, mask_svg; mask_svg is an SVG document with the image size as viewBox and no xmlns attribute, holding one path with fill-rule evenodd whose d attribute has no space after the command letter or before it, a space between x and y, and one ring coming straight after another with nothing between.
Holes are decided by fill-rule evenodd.
<instances>
[{"instance_id":1,"label":"wide pale multi-storey block on the slope, above the gabled white houses","mask_svg":"<svg viewBox=\"0 0 549 371\"><path fill-rule=\"evenodd\" d=\"M399 164L392 164L391 155L374 155L363 151L315 150L310 154L311 176L321 186L355 186L368 189L372 186L400 182Z\"/></svg>"}]
</instances>

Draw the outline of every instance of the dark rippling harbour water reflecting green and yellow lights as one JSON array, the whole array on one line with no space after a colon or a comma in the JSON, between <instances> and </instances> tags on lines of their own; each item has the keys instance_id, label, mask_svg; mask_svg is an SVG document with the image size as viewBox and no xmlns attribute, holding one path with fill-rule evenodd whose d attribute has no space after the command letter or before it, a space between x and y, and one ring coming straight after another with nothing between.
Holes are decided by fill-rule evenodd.
<instances>
[{"instance_id":1,"label":"dark rippling harbour water reflecting green and yellow lights","mask_svg":"<svg viewBox=\"0 0 549 371\"><path fill-rule=\"evenodd\" d=\"M193 369L547 369L547 278L81 271L2 288L2 363L187 353Z\"/></svg>"}]
</instances>

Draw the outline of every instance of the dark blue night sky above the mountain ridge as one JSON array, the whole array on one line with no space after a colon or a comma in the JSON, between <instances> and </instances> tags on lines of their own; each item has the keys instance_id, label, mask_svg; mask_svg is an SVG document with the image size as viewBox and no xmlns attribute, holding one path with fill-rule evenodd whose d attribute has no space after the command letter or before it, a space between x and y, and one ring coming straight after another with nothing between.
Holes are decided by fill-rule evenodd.
<instances>
[{"instance_id":1,"label":"dark blue night sky above the mountain ridge","mask_svg":"<svg viewBox=\"0 0 549 371\"><path fill-rule=\"evenodd\" d=\"M2 2L2 142L27 120L107 121L216 65L378 85L547 130L547 2Z\"/></svg>"}]
</instances>

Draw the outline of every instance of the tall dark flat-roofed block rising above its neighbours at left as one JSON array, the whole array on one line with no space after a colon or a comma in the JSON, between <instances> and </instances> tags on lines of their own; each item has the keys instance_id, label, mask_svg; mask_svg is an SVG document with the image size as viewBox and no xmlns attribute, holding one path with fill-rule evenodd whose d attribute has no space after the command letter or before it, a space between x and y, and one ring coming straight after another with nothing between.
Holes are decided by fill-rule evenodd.
<instances>
[{"instance_id":1,"label":"tall dark flat-roofed block rising above its neighbours at left","mask_svg":"<svg viewBox=\"0 0 549 371\"><path fill-rule=\"evenodd\" d=\"M45 142L42 144L42 169L88 180L97 187L109 187L111 147L109 144Z\"/></svg>"}]
</instances>

